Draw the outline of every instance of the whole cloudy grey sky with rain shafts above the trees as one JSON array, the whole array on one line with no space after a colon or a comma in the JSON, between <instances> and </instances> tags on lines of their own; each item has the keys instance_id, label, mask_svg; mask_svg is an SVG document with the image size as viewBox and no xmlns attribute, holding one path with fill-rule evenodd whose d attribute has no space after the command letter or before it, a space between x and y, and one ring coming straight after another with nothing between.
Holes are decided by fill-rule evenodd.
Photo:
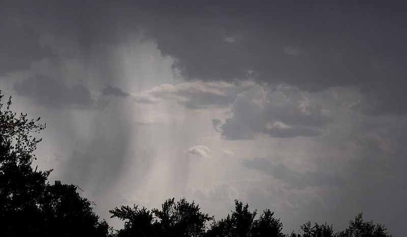
<instances>
[{"instance_id":1,"label":"whole cloudy grey sky with rain shafts above the trees","mask_svg":"<svg viewBox=\"0 0 407 237\"><path fill-rule=\"evenodd\" d=\"M0 88L34 165L108 210L234 200L407 230L404 1L1 1Z\"/></svg>"}]
</instances>

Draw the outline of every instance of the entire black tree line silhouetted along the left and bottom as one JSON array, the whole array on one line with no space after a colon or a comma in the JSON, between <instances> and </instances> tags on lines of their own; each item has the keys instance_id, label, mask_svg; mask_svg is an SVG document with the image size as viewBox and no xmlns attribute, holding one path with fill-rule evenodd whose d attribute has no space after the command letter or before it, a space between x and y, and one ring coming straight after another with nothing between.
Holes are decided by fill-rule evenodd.
<instances>
[{"instance_id":1,"label":"entire black tree line silhouetted along the left and bottom","mask_svg":"<svg viewBox=\"0 0 407 237\"><path fill-rule=\"evenodd\" d=\"M110 210L111 218L124 221L122 229L109 227L93 211L93 202L79 195L73 184L47 179L52 170L33 168L34 151L41 139L34 135L45 128L40 118L10 109L11 97L3 105L0 91L0 236L151 236L151 237L382 237L391 236L384 225L364 221L362 214L345 230L334 232L327 223L300 226L299 231L282 232L283 224L269 209L258 218L257 210L235 200L235 210L215 221L199 205L185 198L169 198L160 209L138 205Z\"/></svg>"}]
</instances>

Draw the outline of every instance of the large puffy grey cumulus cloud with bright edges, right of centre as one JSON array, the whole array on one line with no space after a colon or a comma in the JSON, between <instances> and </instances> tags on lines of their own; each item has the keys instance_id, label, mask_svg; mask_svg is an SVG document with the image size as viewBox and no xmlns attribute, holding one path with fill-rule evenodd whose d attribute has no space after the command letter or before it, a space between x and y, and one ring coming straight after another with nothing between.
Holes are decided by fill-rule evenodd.
<instances>
[{"instance_id":1,"label":"large puffy grey cumulus cloud with bright edges, right of centre","mask_svg":"<svg viewBox=\"0 0 407 237\"><path fill-rule=\"evenodd\" d=\"M318 136L330 120L321 104L290 86L270 91L254 86L237 96L231 113L224 124L212 121L215 130L229 140L253 139L257 133L281 138Z\"/></svg>"}]
</instances>

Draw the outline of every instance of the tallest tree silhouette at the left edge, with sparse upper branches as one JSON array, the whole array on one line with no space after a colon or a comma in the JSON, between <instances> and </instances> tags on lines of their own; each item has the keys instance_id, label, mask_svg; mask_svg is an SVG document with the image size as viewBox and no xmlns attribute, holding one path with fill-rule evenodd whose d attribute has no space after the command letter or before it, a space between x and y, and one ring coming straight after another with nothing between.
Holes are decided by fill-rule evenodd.
<instances>
[{"instance_id":1,"label":"tallest tree silhouette at the left edge, with sparse upper branches","mask_svg":"<svg viewBox=\"0 0 407 237\"><path fill-rule=\"evenodd\" d=\"M39 233L44 225L39 203L43 197L50 170L33 169L33 152L41 139L33 137L45 125L28 120L27 114L17 115L10 110L11 97L6 109L0 92L0 235L24 236Z\"/></svg>"}]
</instances>

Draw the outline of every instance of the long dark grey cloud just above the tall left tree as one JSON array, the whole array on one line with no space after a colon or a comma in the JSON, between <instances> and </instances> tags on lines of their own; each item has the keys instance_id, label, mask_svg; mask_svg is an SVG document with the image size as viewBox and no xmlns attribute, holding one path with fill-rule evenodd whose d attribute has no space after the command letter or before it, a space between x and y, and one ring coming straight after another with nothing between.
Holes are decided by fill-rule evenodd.
<instances>
[{"instance_id":1,"label":"long dark grey cloud just above the tall left tree","mask_svg":"<svg viewBox=\"0 0 407 237\"><path fill-rule=\"evenodd\" d=\"M91 93L83 85L67 86L63 81L51 79L44 75L16 82L14 90L17 95L32 99L40 105L64 107L69 105L90 105Z\"/></svg>"}]
</instances>

